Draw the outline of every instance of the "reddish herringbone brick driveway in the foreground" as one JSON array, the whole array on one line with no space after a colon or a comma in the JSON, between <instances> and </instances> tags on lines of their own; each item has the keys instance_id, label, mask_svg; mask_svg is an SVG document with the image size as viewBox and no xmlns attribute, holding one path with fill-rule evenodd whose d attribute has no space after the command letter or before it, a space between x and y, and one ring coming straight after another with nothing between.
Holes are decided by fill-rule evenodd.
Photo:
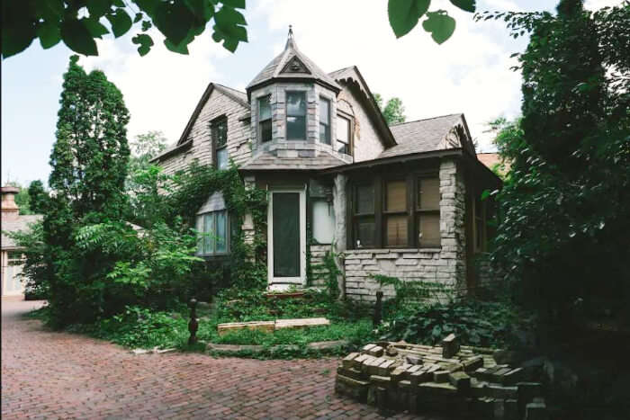
<instances>
[{"instance_id":1,"label":"reddish herringbone brick driveway in the foreground","mask_svg":"<svg viewBox=\"0 0 630 420\"><path fill-rule=\"evenodd\" d=\"M115 344L47 331L23 317L40 304L2 301L4 420L383 418L373 407L335 395L335 359L133 355Z\"/></svg>"}]
</instances>

